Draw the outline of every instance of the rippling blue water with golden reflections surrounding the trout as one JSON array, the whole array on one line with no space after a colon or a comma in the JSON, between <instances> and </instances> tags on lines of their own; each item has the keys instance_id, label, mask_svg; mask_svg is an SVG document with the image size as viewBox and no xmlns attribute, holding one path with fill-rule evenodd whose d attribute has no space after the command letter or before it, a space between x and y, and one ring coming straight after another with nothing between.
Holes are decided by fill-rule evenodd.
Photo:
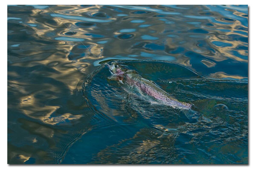
<instances>
[{"instance_id":1,"label":"rippling blue water with golden reflections surrounding the trout","mask_svg":"<svg viewBox=\"0 0 256 170\"><path fill-rule=\"evenodd\" d=\"M248 163L247 6L7 8L9 164Z\"/></svg>"}]
</instances>

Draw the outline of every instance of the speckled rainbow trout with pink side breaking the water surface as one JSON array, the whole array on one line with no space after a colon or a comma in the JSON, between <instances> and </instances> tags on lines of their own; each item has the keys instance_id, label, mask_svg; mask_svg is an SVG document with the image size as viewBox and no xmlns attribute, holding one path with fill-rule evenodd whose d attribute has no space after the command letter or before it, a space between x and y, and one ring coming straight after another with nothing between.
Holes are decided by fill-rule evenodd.
<instances>
[{"instance_id":1,"label":"speckled rainbow trout with pink side breaking the water surface","mask_svg":"<svg viewBox=\"0 0 256 170\"><path fill-rule=\"evenodd\" d=\"M161 89L154 82L140 76L135 70L130 70L123 65L113 62L111 65L107 64L111 76L108 79L116 80L121 84L127 84L136 87L141 92L153 97L163 105L172 108L191 109L192 105L186 102L180 102L175 99L171 94Z\"/></svg>"}]
</instances>

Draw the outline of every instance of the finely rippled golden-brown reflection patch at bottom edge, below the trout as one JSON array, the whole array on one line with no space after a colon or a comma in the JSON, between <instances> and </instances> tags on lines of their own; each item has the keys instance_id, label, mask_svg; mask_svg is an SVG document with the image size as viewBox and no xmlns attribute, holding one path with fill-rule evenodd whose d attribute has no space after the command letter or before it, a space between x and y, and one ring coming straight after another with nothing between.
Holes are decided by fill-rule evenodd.
<instances>
[{"instance_id":1,"label":"finely rippled golden-brown reflection patch at bottom edge, below the trout","mask_svg":"<svg viewBox=\"0 0 256 170\"><path fill-rule=\"evenodd\" d=\"M144 135L147 136L148 139L142 140L141 138ZM113 144L101 150L94 158L96 161L91 163L106 164L112 159L117 159L117 164L132 164L133 162L145 164L145 162L150 160L157 160L159 156L167 158L173 154L174 138L175 135L172 133L163 137L163 134L161 135L157 132L154 133L147 129L141 129L132 138L119 141L118 144ZM165 140L168 140L168 142ZM159 150L160 145L162 148ZM123 152L128 153L122 154ZM168 161L166 163L168 163Z\"/></svg>"}]
</instances>

